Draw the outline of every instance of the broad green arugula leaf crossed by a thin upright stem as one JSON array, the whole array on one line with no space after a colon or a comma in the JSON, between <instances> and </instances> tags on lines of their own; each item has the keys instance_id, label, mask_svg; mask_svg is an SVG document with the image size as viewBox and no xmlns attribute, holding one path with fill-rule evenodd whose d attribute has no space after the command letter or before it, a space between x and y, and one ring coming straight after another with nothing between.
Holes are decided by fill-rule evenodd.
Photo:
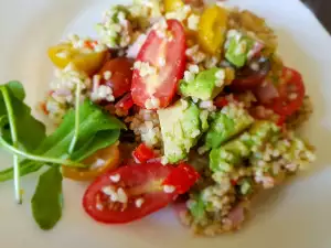
<instances>
[{"instance_id":1,"label":"broad green arugula leaf crossed by a thin upright stem","mask_svg":"<svg viewBox=\"0 0 331 248\"><path fill-rule=\"evenodd\" d=\"M115 117L104 114L100 108L86 100L79 107L79 136L76 142L76 150L67 154L68 147L74 136L75 112L70 110L64 117L61 126L47 138L40 147L33 151L33 154L45 155L50 158L71 158L73 161L82 161L99 149L115 143L120 134L120 129L126 128ZM21 176L33 173L44 165L42 162L23 160L20 163ZM0 172L0 182L11 180L12 169Z\"/></svg>"}]
</instances>

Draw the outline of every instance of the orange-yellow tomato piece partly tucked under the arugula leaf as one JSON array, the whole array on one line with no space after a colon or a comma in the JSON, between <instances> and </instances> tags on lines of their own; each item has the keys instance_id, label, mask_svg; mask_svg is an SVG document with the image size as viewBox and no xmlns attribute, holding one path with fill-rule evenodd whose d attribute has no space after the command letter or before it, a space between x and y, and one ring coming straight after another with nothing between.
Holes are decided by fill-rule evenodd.
<instances>
[{"instance_id":1,"label":"orange-yellow tomato piece partly tucked under the arugula leaf","mask_svg":"<svg viewBox=\"0 0 331 248\"><path fill-rule=\"evenodd\" d=\"M106 171L114 170L119 165L119 149L117 144L113 144L102 149L83 161L85 164L95 164L88 169L77 169L62 166L62 174L67 179L75 181L90 181ZM98 164L102 163L102 164Z\"/></svg>"}]
</instances>

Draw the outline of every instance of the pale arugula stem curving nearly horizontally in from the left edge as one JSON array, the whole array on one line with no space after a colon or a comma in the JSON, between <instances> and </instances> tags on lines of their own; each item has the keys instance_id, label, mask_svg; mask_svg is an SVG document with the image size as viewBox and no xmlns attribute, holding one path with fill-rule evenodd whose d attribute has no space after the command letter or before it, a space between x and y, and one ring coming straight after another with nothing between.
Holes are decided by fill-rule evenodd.
<instances>
[{"instance_id":1,"label":"pale arugula stem curving nearly horizontally in from the left edge","mask_svg":"<svg viewBox=\"0 0 331 248\"><path fill-rule=\"evenodd\" d=\"M8 151L14 153L15 155L21 155L25 159L38 161L38 162L44 162L44 163L54 163L54 164L64 164L66 166L72 166L72 168L86 168L85 164L78 163L78 162L73 162L71 160L62 160L62 159L53 159L53 158L47 158L47 157L40 157L40 155L34 155L24 151L21 151L10 143L8 143L2 137L0 137L0 144L3 145Z\"/></svg>"}]
</instances>

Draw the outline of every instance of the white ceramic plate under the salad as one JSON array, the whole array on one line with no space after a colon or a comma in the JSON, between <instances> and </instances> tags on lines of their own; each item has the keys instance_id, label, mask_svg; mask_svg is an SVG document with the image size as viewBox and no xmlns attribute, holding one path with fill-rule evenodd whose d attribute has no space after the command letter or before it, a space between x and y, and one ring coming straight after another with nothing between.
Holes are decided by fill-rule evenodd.
<instances>
[{"instance_id":1,"label":"white ceramic plate under the salad","mask_svg":"<svg viewBox=\"0 0 331 248\"><path fill-rule=\"evenodd\" d=\"M0 82L20 79L28 103L42 99L52 76L46 48L64 34L94 34L94 24L109 4L102 0L0 1ZM85 185L64 182L62 220L51 231L40 230L30 212L36 174L23 179L24 205L13 202L12 183L0 185L1 247L119 248L119 247L226 247L330 248L331 235L331 37L298 0L233 0L267 18L279 34L279 52L299 69L312 96L314 115L305 133L317 147L312 170L292 184L267 192L256 201L253 219L242 231L217 238L193 237L181 227L171 209L126 226L99 225L81 206ZM10 165L0 154L1 168Z\"/></svg>"}]
</instances>

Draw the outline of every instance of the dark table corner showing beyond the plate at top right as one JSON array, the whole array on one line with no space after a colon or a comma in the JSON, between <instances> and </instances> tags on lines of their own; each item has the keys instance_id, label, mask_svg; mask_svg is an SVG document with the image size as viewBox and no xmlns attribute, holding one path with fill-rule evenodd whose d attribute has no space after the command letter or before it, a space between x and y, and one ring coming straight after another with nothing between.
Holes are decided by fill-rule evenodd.
<instances>
[{"instance_id":1,"label":"dark table corner showing beyond the plate at top right","mask_svg":"<svg viewBox=\"0 0 331 248\"><path fill-rule=\"evenodd\" d=\"M330 0L302 0L318 17L320 22L331 33L331 1Z\"/></svg>"}]
</instances>

